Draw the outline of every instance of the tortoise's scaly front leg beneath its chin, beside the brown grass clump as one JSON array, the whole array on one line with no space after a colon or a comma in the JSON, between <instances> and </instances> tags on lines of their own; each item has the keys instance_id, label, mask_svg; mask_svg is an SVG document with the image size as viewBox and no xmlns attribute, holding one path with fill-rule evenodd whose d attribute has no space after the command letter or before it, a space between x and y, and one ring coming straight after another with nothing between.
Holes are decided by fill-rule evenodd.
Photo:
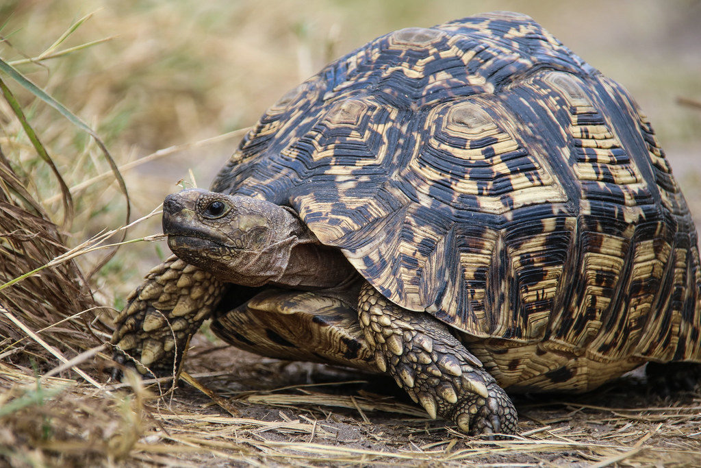
<instances>
[{"instance_id":1,"label":"tortoise's scaly front leg beneath its chin, beside the brown grass clump","mask_svg":"<svg viewBox=\"0 0 701 468\"><path fill-rule=\"evenodd\" d=\"M223 293L223 283L211 274L171 256L151 269L117 316L110 340L115 361L132 363L142 374L173 373L187 340Z\"/></svg>"}]
</instances>

